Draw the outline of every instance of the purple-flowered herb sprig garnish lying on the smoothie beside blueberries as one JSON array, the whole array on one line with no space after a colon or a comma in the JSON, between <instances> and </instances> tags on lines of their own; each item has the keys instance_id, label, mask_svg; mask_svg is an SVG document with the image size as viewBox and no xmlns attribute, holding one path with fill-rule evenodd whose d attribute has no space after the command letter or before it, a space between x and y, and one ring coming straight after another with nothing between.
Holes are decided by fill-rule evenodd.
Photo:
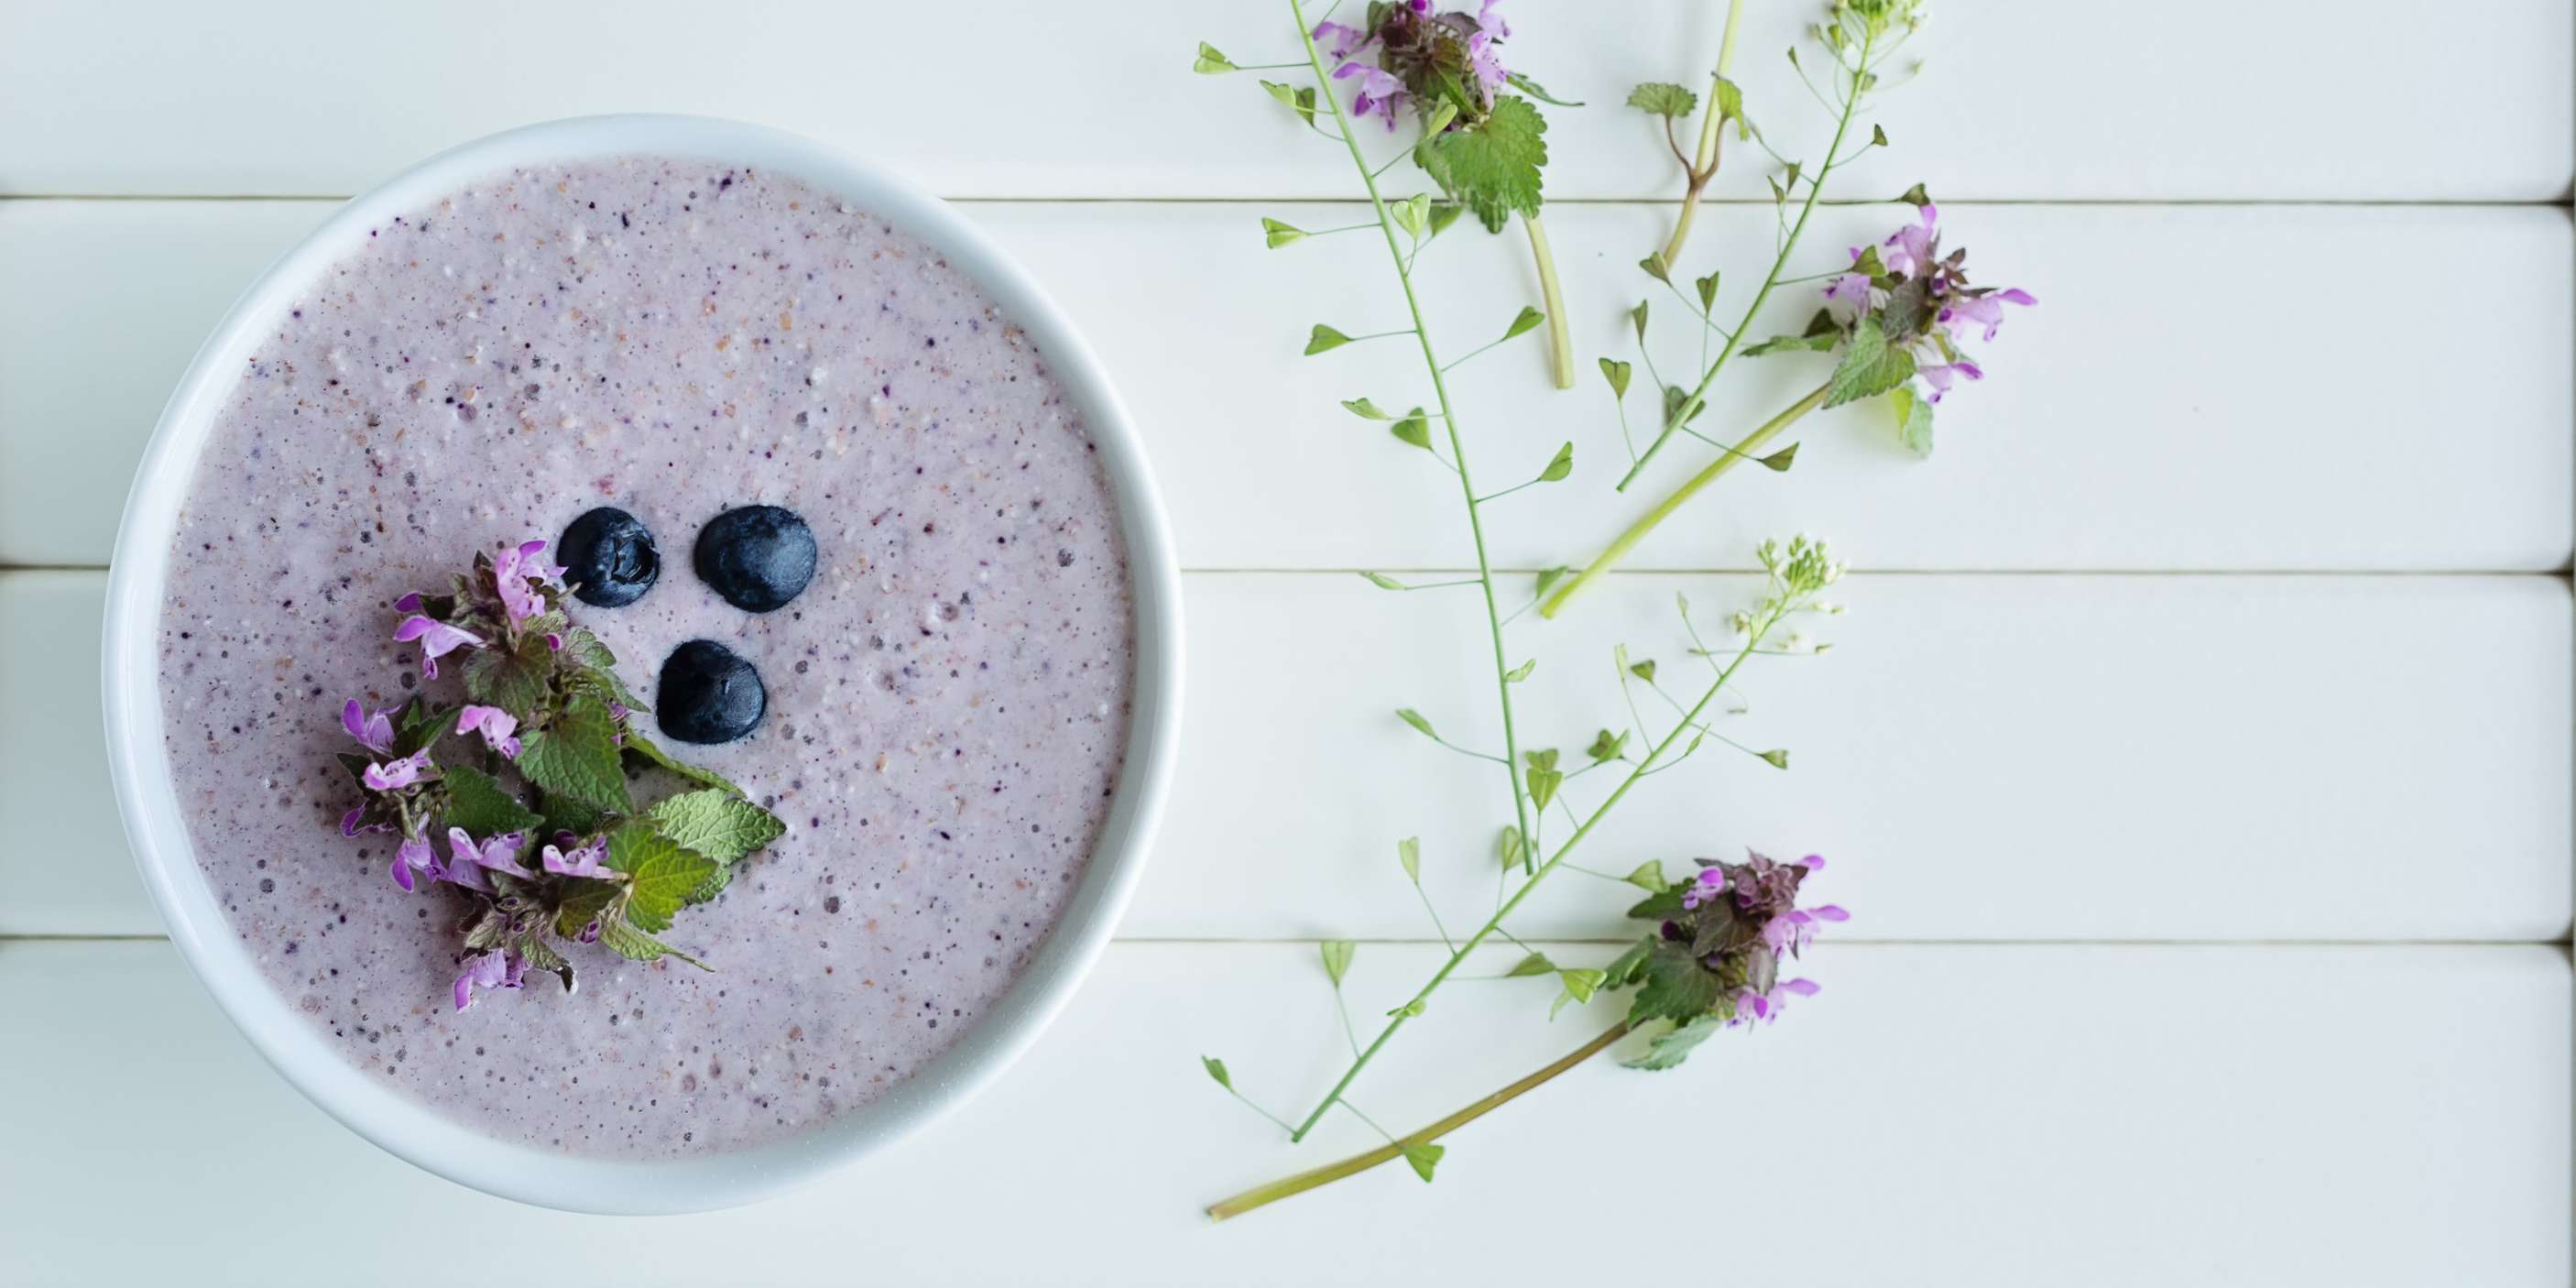
<instances>
[{"instance_id":1,"label":"purple-flowered herb sprig garnish lying on the smoothie beside blueberries","mask_svg":"<svg viewBox=\"0 0 2576 1288\"><path fill-rule=\"evenodd\" d=\"M564 569L544 549L477 554L448 592L394 603L392 639L420 647L425 680L464 654L461 703L415 693L394 711L361 698L340 706L340 726L366 752L340 755L361 791L340 832L402 837L392 881L464 899L456 1010L477 989L518 989L531 969L569 992L569 953L592 943L703 969L657 935L683 907L721 894L737 860L786 835L742 788L634 729L618 659L572 623ZM629 775L641 770L688 791L639 809Z\"/></svg>"}]
</instances>

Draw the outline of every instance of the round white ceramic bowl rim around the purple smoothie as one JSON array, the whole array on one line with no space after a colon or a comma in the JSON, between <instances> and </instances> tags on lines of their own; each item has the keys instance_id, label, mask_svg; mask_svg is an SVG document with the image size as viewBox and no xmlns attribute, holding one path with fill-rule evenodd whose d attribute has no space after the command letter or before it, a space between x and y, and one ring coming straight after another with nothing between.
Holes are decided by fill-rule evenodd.
<instances>
[{"instance_id":1,"label":"round white ceramic bowl rim around the purple smoothie","mask_svg":"<svg viewBox=\"0 0 2576 1288\"><path fill-rule=\"evenodd\" d=\"M1100 440L1136 598L1136 698L1126 770L1064 920L1025 974L948 1054L868 1105L781 1144L670 1162L582 1159L484 1136L355 1069L296 1015L252 966L198 871L170 788L157 665L180 497L245 355L273 330L273 317L289 299L366 242L371 224L394 214L513 165L621 152L791 173L943 250L948 263L1036 337L1048 371ZM340 206L242 294L170 394L134 474L108 572L103 667L108 762L144 886L180 953L268 1064L332 1118L448 1180L549 1208L672 1213L773 1195L920 1128L999 1074L1066 1002L1118 925L1162 814L1180 734L1180 574L1144 448L1100 358L1038 283L958 211L902 178L796 134L698 116L587 116L492 134L394 175Z\"/></svg>"}]
</instances>

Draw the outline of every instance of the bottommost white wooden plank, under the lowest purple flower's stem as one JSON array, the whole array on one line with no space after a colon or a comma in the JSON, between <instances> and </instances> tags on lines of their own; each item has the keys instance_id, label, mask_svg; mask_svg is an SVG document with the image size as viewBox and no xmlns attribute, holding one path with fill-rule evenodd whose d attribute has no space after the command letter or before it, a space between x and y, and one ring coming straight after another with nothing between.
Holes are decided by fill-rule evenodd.
<instances>
[{"instance_id":1,"label":"bottommost white wooden plank, under the lowest purple flower's stem","mask_svg":"<svg viewBox=\"0 0 2576 1288\"><path fill-rule=\"evenodd\" d=\"M1352 1005L1432 951L1363 945ZM1499 963L1497 963L1499 966ZM2483 1288L2568 1275L2568 969L2550 948L1819 948L1826 992L1674 1074L1577 1069L1401 1167L1208 1226L1306 1149L1340 1059L1303 945L1115 945L1038 1048L925 1136L729 1213L600 1221L415 1172L304 1105L160 943L0 943L0 1278L448 1283L1582 1283L1651 1221L1741 1283ZM1484 989L1484 992L1471 992ZM1355 1097L1419 1123L1589 1036L1461 984ZM183 1095L173 1095L183 1090ZM1762 1110L1770 1105L1770 1110ZM1654 1149L1672 1133L1708 1149ZM1494 1213L1525 1211L1510 1236ZM1610 1239L1623 1229L1625 1244ZM824 1236L822 1231L835 1231ZM1007 1236L997 1236L1007 1231Z\"/></svg>"}]
</instances>

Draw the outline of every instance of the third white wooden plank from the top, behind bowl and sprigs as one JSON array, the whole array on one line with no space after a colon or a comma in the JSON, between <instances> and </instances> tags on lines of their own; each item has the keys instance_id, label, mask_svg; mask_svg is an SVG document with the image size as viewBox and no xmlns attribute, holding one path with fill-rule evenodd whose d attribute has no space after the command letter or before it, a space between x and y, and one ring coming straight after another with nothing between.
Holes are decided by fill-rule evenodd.
<instances>
[{"instance_id":1,"label":"third white wooden plank from the top, behind bowl and sprigs","mask_svg":"<svg viewBox=\"0 0 2576 1288\"><path fill-rule=\"evenodd\" d=\"M1623 577L1535 657L1530 744L1620 721L1610 647L1698 662L1747 577ZM1708 747L1587 850L1826 853L1852 935L1896 940L2548 940L2568 930L2571 613L2555 577L1852 577L1826 657L1757 659ZM0 933L157 933L113 832L93 716L95 574L0 577ZM1391 719L1499 747L1481 613L1342 574L1190 574L1172 809L1126 933L1430 938L1394 837L1425 840L1450 925L1492 912L1499 770ZM1533 618L1522 618L1530 623ZM1659 701L1641 696L1649 714ZM317 714L317 719L325 719ZM1662 721L1656 721L1662 726ZM1592 804L1605 775L1566 796ZM26 819L18 824L15 819ZM1564 835L1564 819L1548 835ZM1633 889L1566 873L1520 935L1618 935Z\"/></svg>"}]
</instances>

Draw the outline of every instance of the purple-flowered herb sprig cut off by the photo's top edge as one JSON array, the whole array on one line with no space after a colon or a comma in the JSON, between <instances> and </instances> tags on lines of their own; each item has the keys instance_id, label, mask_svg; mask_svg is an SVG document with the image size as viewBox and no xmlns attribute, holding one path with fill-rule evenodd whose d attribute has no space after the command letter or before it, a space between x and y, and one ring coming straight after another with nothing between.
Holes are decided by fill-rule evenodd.
<instances>
[{"instance_id":1,"label":"purple-flowered herb sprig cut off by the photo's top edge","mask_svg":"<svg viewBox=\"0 0 2576 1288\"><path fill-rule=\"evenodd\" d=\"M1461 211L1473 211L1486 232L1502 232L1512 216L1520 216L1520 227L1530 237L1540 291L1540 309L1528 317L1530 325L1548 327L1548 376L1558 389L1574 389L1574 337L1566 332L1556 250L1548 245L1548 227L1540 216L1548 121L1538 103L1558 108L1579 108L1582 103L1566 103L1528 75L1504 67L1502 44L1512 36L1512 26L1497 13L1499 3L1479 0L1473 13L1437 13L1432 0L1373 0L1360 26L1327 15L1309 36L1332 59L1324 90L1350 88L1347 116L1378 118L1388 131L1404 116L1422 124L1422 134L1406 155L1440 185L1448 201L1419 198L1422 204L1409 204L1401 211L1409 232L1417 237L1437 234ZM1198 72L1239 70L1216 49L1206 44L1198 49ZM1314 88L1301 90L1280 82L1262 82L1262 88L1296 108L1306 124L1319 121ZM1388 160L1376 175L1394 165ZM1275 219L1267 219L1265 229L1273 250L1309 237L1306 229Z\"/></svg>"}]
</instances>

